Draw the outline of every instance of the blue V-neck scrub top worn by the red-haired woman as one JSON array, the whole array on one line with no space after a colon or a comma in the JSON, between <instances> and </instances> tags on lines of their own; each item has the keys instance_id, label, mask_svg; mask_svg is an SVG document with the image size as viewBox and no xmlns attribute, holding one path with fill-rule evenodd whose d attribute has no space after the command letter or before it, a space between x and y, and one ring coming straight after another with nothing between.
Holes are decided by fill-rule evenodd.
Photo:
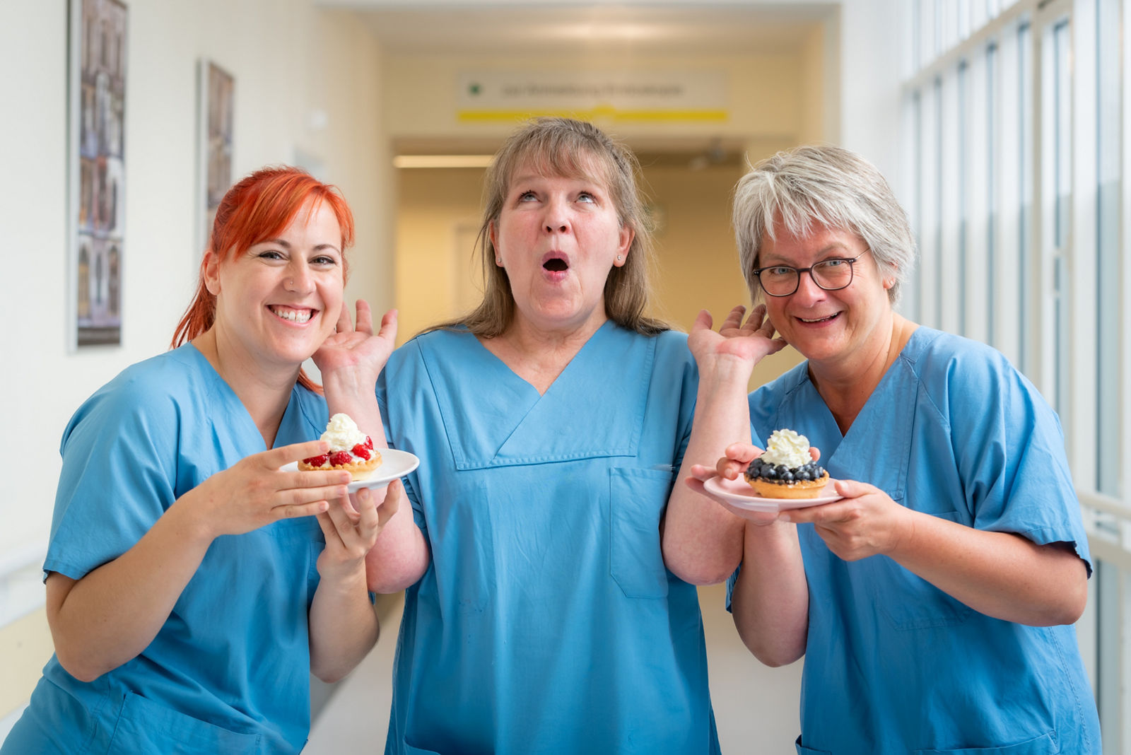
<instances>
[{"instance_id":1,"label":"blue V-neck scrub top worn by the red-haired woman","mask_svg":"<svg viewBox=\"0 0 1131 755\"><path fill-rule=\"evenodd\" d=\"M313 440L326 401L296 385L277 445ZM71 418L44 572L80 579L176 498L264 439L191 345L136 364ZM209 546L141 653L94 682L52 657L0 748L37 753L297 753L310 729L307 613L325 540L313 517Z\"/></svg>"}]
</instances>

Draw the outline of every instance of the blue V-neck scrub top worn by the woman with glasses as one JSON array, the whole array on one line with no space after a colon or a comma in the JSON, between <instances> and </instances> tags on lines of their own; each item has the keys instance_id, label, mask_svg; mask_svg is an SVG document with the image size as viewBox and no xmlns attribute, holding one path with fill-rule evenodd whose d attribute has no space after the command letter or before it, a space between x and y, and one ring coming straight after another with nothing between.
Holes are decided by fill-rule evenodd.
<instances>
[{"instance_id":1,"label":"blue V-neck scrub top worn by the woman with glasses","mask_svg":"<svg viewBox=\"0 0 1131 755\"><path fill-rule=\"evenodd\" d=\"M808 363L750 396L839 479L966 527L1088 540L1056 415L994 349L918 328L844 436ZM838 558L797 528L809 581L802 755L1088 755L1099 722L1072 626L991 618L887 556ZM733 582L732 582L733 584Z\"/></svg>"}]
</instances>

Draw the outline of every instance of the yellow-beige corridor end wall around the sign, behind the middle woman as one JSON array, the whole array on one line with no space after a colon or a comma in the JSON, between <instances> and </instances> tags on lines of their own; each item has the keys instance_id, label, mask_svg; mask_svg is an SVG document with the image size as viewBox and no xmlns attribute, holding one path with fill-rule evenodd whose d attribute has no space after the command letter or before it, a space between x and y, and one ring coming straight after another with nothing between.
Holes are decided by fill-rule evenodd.
<instances>
[{"instance_id":1,"label":"yellow-beige corridor end wall around the sign, behind the middle woman","mask_svg":"<svg viewBox=\"0 0 1131 755\"><path fill-rule=\"evenodd\" d=\"M596 121L638 151L706 146L705 137L741 145L751 160L804 140L824 137L831 119L824 105L823 50L828 29L817 25L795 51L735 57L638 58L597 53L586 69L705 69L726 71L729 119L725 123L632 123ZM576 58L539 59L537 68L568 70ZM391 55L386 66L386 132L397 142L443 151L494 147L515 123L461 123L457 118L457 81L463 71L513 70L513 58L472 55ZM649 167L648 193L664 217L657 244L656 312L676 327L691 327L699 309L718 319L749 296L739 275L729 227L731 190L742 175L745 155L727 168ZM668 160L661 162L667 165ZM397 305L400 341L464 307L467 280L481 280L469 266L470 248L460 226L478 226L482 171L402 170L397 231ZM457 240L464 243L455 249ZM758 384L792 366L796 355L767 359Z\"/></svg>"}]
</instances>

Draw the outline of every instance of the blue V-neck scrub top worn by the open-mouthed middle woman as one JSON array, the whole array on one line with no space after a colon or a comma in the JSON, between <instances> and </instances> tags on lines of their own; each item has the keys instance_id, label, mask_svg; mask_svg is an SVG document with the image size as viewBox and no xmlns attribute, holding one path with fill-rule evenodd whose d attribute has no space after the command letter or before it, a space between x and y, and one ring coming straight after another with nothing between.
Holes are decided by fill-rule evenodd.
<instances>
[{"instance_id":1,"label":"blue V-neck scrub top worn by the open-mouthed middle woman","mask_svg":"<svg viewBox=\"0 0 1131 755\"><path fill-rule=\"evenodd\" d=\"M687 336L608 322L539 396L466 330L378 382L431 564L405 595L386 753L717 753L696 588L659 522Z\"/></svg>"}]
</instances>

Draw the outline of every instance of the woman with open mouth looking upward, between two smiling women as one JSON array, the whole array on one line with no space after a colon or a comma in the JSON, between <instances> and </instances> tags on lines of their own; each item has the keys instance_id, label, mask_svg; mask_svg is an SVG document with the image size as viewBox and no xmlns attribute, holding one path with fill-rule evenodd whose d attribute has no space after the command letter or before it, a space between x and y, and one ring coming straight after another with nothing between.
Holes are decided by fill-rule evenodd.
<instances>
[{"instance_id":1,"label":"woman with open mouth looking upward, between two smiling women","mask_svg":"<svg viewBox=\"0 0 1131 755\"><path fill-rule=\"evenodd\" d=\"M692 432L714 378L645 313L636 172L589 123L513 133L486 176L483 302L378 383L390 445L421 459L415 519L369 562L372 589L407 588L386 753L718 753L688 565L722 548L733 570L743 523L674 472L746 423Z\"/></svg>"}]
</instances>

